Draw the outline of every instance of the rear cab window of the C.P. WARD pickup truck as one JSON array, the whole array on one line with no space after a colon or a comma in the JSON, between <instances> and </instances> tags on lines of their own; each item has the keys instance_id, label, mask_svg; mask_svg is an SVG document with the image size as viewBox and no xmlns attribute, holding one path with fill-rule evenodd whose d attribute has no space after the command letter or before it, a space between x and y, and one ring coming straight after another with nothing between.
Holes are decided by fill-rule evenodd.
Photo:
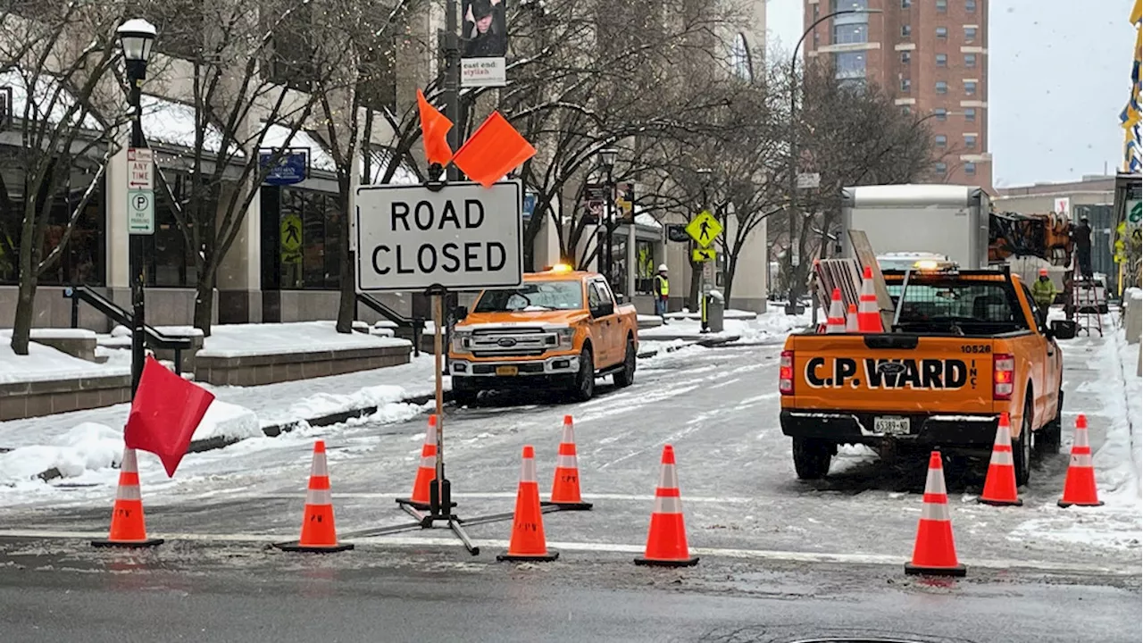
<instances>
[{"instance_id":1,"label":"rear cab window of the C.P. WARD pickup truck","mask_svg":"<svg viewBox=\"0 0 1143 643\"><path fill-rule=\"evenodd\" d=\"M902 301L902 285L888 285L894 305L901 308L897 326L914 332L960 332L990 335L1028 330L1020 304L1005 281L966 279L910 281Z\"/></svg>"}]
</instances>

